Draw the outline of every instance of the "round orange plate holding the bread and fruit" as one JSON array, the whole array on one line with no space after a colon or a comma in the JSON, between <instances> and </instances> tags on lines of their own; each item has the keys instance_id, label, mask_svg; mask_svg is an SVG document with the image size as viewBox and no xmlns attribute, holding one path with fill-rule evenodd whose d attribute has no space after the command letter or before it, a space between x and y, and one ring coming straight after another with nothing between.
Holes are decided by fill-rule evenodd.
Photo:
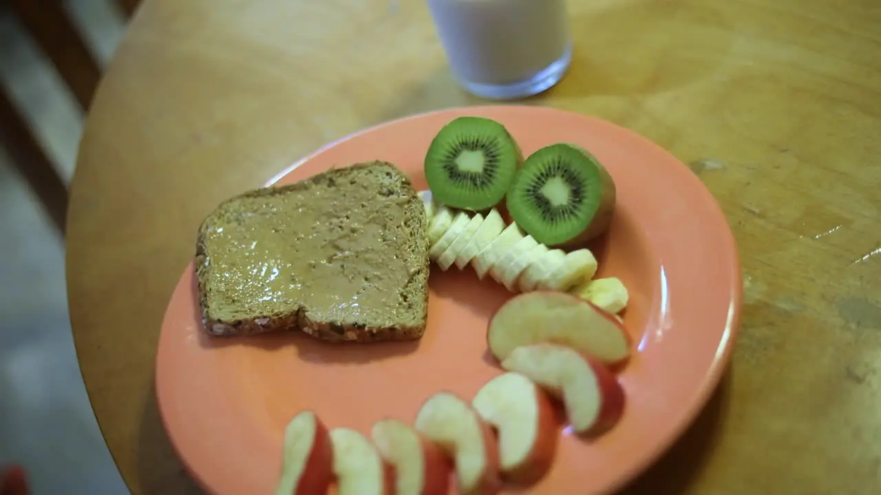
<instances>
[{"instance_id":1,"label":"round orange plate holding the bread and fruit","mask_svg":"<svg viewBox=\"0 0 881 495\"><path fill-rule=\"evenodd\" d=\"M579 144L618 186L610 233L593 248L597 277L619 277L630 291L625 322L637 351L620 375L626 412L592 442L562 430L556 462L532 490L613 491L676 440L719 381L742 299L735 241L713 196L668 152L611 123L551 108L455 108L385 123L329 144L273 181L382 159L424 189L428 144L460 115L502 122L527 155L560 141ZM168 304L156 370L159 410L190 473L214 493L270 493L285 424L300 410L366 433L382 417L412 421L439 390L472 397L500 373L485 329L510 294L470 269L433 268L430 285L428 329L418 342L217 339L202 330L190 264Z\"/></svg>"}]
</instances>

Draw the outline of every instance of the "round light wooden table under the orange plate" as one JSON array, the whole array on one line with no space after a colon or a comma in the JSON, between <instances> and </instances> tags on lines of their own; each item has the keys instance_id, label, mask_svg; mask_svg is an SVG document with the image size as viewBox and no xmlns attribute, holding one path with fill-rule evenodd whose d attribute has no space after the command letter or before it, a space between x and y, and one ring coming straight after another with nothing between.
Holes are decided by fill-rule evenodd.
<instances>
[{"instance_id":1,"label":"round light wooden table under the orange plate","mask_svg":"<svg viewBox=\"0 0 881 495\"><path fill-rule=\"evenodd\" d=\"M572 71L528 103L618 122L691 164L744 263L728 376L628 492L877 492L881 4L571 5ZM152 373L204 215L329 140L478 102L423 2L145 2L86 125L67 251L85 385L133 492L196 492Z\"/></svg>"}]
</instances>

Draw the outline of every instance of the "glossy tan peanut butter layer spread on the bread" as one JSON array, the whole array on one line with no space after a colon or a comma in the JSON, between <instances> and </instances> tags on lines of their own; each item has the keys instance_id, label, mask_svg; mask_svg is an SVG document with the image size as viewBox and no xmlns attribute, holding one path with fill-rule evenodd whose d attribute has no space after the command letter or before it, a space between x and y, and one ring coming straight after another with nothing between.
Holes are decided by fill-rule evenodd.
<instances>
[{"instance_id":1,"label":"glossy tan peanut butter layer spread on the bread","mask_svg":"<svg viewBox=\"0 0 881 495\"><path fill-rule=\"evenodd\" d=\"M226 321L298 308L312 321L394 326L425 259L408 253L395 174L325 176L299 194L251 196L204 231L212 298Z\"/></svg>"}]
</instances>

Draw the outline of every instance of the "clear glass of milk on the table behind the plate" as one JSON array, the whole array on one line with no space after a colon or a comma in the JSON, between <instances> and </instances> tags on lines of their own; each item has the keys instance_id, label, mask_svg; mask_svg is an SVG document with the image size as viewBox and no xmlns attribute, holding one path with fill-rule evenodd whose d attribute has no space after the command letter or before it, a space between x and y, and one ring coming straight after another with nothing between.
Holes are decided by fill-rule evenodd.
<instances>
[{"instance_id":1,"label":"clear glass of milk on the table behind the plate","mask_svg":"<svg viewBox=\"0 0 881 495\"><path fill-rule=\"evenodd\" d=\"M565 0L427 0L453 75L478 96L543 92L572 60Z\"/></svg>"}]
</instances>

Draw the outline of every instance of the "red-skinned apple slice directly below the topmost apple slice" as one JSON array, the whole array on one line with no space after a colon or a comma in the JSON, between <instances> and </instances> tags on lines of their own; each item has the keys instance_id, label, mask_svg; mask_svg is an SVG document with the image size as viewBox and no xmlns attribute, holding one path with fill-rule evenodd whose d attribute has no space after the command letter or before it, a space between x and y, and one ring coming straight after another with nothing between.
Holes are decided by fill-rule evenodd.
<instances>
[{"instance_id":1,"label":"red-skinned apple slice directly below the topmost apple slice","mask_svg":"<svg viewBox=\"0 0 881 495\"><path fill-rule=\"evenodd\" d=\"M575 432L604 432L624 413L624 388L609 368L564 345L518 347L501 367L522 373L561 399Z\"/></svg>"}]
</instances>

